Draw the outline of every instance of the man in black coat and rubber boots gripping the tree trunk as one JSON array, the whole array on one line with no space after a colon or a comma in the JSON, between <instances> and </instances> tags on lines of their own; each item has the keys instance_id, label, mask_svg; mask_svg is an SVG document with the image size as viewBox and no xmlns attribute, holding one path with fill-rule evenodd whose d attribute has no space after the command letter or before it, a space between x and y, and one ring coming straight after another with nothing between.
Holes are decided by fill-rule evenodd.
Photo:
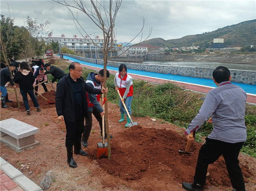
<instances>
[{"instance_id":1,"label":"man in black coat and rubber boots gripping the tree trunk","mask_svg":"<svg viewBox=\"0 0 256 191\"><path fill-rule=\"evenodd\" d=\"M70 167L77 167L73 159L74 154L87 156L81 148L84 117L88 117L88 103L86 92L91 94L107 93L108 89L96 89L85 83L82 75L83 67L78 62L69 65L69 73L61 78L56 89L56 111L59 121L65 121L67 162Z\"/></svg>"}]
</instances>

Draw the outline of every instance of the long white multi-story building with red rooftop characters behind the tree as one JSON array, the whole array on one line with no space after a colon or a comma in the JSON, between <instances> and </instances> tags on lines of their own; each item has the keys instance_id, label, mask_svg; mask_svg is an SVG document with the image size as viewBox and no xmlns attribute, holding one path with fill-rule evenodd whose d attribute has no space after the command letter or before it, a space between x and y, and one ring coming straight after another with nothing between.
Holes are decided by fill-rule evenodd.
<instances>
[{"instance_id":1,"label":"long white multi-story building with red rooftop characters behind the tree","mask_svg":"<svg viewBox=\"0 0 256 191\"><path fill-rule=\"evenodd\" d=\"M68 49L75 51L76 53L80 53L86 58L97 58L103 59L102 51L99 47L103 48L104 40L95 38L65 38L65 37L39 37L39 40L43 39L45 43L50 42L59 42L61 47L66 46ZM95 42L99 47L92 44ZM108 52L108 56L116 56L117 55L117 40L113 42L113 49Z\"/></svg>"}]
</instances>

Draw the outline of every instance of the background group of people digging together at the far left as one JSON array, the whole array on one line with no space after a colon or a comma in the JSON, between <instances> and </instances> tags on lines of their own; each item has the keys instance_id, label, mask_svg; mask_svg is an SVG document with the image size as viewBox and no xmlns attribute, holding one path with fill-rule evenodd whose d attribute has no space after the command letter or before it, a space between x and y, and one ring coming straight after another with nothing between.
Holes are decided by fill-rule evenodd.
<instances>
[{"instance_id":1,"label":"background group of people digging together at the far left","mask_svg":"<svg viewBox=\"0 0 256 191\"><path fill-rule=\"evenodd\" d=\"M61 75L64 76L64 72L61 71ZM28 104L28 95L30 96L34 107L37 109L37 112L40 112L41 109L37 102L37 91L38 85L41 84L47 92L47 87L45 83L47 83L46 71L44 60L39 57L29 59L29 62L17 62L16 58L12 56L9 58L9 63L4 64L1 63L1 93L2 93L2 108L9 107L6 105L7 102L12 102L9 100L8 93L6 87L11 84L13 89L16 89L16 84L19 84L20 94L22 95L22 100L27 112L27 115L31 115L30 107ZM52 74L55 76L55 74ZM55 79L60 79L61 75L56 75Z\"/></svg>"}]
</instances>

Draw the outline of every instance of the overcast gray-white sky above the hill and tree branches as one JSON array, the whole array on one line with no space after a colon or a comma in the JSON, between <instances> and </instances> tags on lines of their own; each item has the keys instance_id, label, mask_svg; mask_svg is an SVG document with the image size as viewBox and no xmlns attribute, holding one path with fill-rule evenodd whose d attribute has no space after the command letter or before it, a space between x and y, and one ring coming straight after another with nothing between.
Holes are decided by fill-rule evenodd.
<instances>
[{"instance_id":1,"label":"overcast gray-white sky above the hill and tree branches","mask_svg":"<svg viewBox=\"0 0 256 191\"><path fill-rule=\"evenodd\" d=\"M89 0L85 2L89 3ZM73 12L76 14L76 11ZM27 16L37 18L39 24L48 19L52 22L48 29L53 31L52 36L61 37L64 34L67 38L72 38L73 35L82 38L70 11L51 0L1 0L1 14L10 15L14 18L15 25L19 26L26 25L24 21ZM148 36L152 27L149 39L170 40L256 19L256 1L123 0L115 20L118 42L129 42L139 33L143 24L142 17L145 18L144 38ZM103 37L102 31L94 29L93 22L81 11L78 11L78 20L88 34L95 33L96 36ZM84 32L82 33L84 35ZM138 38L132 43L137 42L139 42Z\"/></svg>"}]
</instances>

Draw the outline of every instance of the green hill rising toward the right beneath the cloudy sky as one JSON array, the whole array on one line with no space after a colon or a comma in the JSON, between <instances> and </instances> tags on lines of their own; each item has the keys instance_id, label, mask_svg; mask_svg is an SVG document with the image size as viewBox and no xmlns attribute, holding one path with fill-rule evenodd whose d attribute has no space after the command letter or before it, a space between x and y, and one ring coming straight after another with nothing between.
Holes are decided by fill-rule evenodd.
<instances>
[{"instance_id":1,"label":"green hill rising toward the right beneath the cloudy sky","mask_svg":"<svg viewBox=\"0 0 256 191\"><path fill-rule=\"evenodd\" d=\"M156 47L183 47L195 46L208 48L213 38L224 38L224 44L231 47L242 47L244 45L256 44L256 19L244 21L239 24L219 28L215 31L198 35L187 35L178 39L164 40L163 38L152 38L139 44L147 46L148 49Z\"/></svg>"}]
</instances>

